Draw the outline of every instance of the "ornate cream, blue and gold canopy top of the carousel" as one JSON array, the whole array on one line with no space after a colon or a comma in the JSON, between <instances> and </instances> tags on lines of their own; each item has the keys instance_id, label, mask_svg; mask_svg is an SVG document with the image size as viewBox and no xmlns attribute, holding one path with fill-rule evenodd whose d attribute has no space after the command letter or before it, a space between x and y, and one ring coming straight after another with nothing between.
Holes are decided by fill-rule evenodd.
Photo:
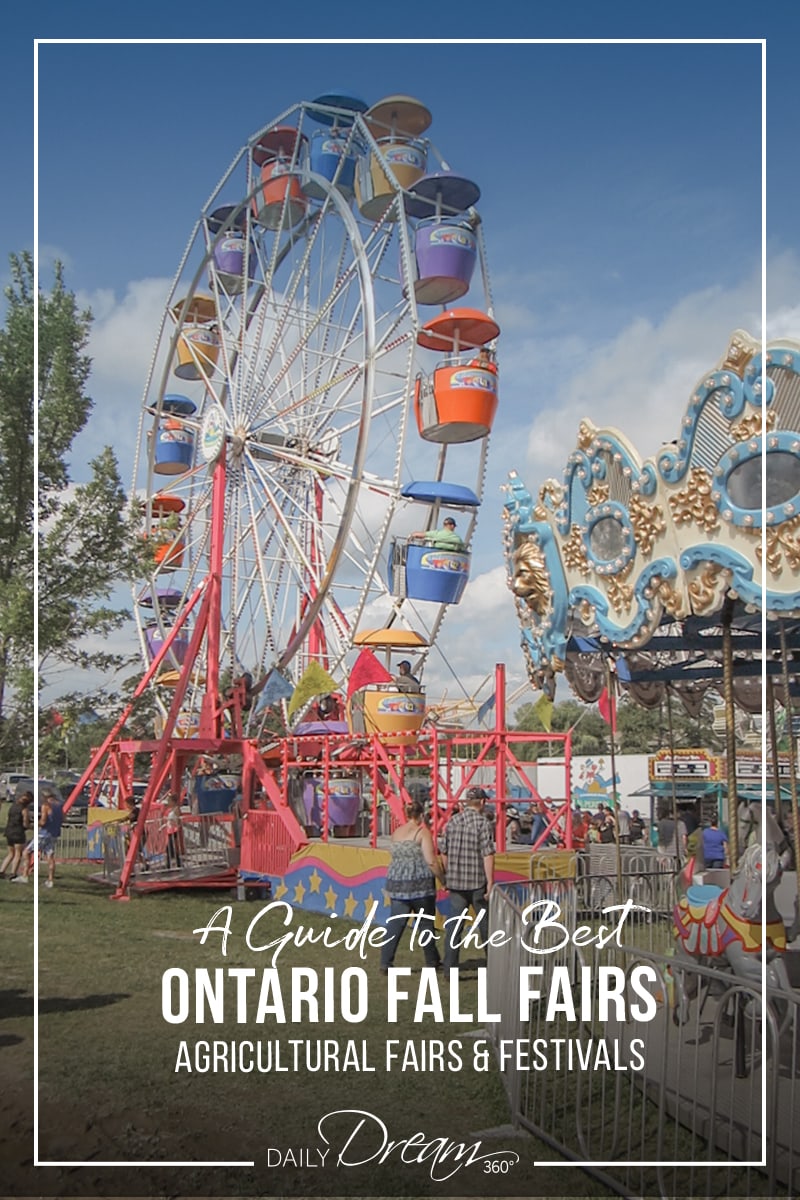
<instances>
[{"instance_id":1,"label":"ornate cream, blue and gold canopy top of the carousel","mask_svg":"<svg viewBox=\"0 0 800 1200\"><path fill-rule=\"evenodd\" d=\"M534 499L511 472L506 491L507 582L535 686L564 671L593 702L613 655L638 703L669 686L697 709L722 679L724 629L734 698L752 712L765 617L780 695L782 647L800 649L800 343L769 344L763 362L738 330L655 456L583 420L560 482Z\"/></svg>"}]
</instances>

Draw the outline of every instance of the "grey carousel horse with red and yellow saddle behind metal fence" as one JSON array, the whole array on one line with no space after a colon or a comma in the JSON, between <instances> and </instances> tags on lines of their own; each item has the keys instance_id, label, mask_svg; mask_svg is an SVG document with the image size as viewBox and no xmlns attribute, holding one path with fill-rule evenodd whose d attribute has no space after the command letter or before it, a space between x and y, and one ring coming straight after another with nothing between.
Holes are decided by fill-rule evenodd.
<instances>
[{"instance_id":1,"label":"grey carousel horse with red and yellow saddle behind metal fence","mask_svg":"<svg viewBox=\"0 0 800 1200\"><path fill-rule=\"evenodd\" d=\"M787 935L775 904L782 864L777 846L771 840L774 830L770 830L769 822L766 834L764 860L760 845L747 846L729 887L687 883L682 872L678 878L673 910L675 961L672 970L675 982L673 1020L676 1025L688 1020L690 1001L697 994L698 983L696 972L680 970L681 958L693 959L704 966L718 965L732 971L738 979L760 985L764 949L768 985L782 991L792 990L781 954L796 932L798 911L795 906L793 930ZM762 906L766 908L766 947L762 947Z\"/></svg>"}]
</instances>

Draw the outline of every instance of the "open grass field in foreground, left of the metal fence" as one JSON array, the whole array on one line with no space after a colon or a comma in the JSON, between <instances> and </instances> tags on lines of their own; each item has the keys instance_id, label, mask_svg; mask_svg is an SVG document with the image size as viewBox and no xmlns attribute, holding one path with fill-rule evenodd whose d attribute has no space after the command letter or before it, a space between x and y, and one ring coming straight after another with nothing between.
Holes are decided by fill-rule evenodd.
<instances>
[{"instance_id":1,"label":"open grass field in foreground, left of the metal fence","mask_svg":"<svg viewBox=\"0 0 800 1200\"><path fill-rule=\"evenodd\" d=\"M473 1067L480 1022L451 1021L450 989L441 984L445 1019L426 1015L414 1021L414 1006L401 1006L396 1024L387 1021L389 989L378 965L378 950L366 960L355 952L321 946L289 947L277 960L284 1000L290 995L293 967L309 967L320 976L332 968L338 984L347 967L359 966L368 980L368 1012L348 1024L338 1012L332 1020L320 1013L318 1024L278 1024L275 1012L258 1016L258 989L240 1012L235 977L225 991L218 1021L206 1012L196 1024L194 1000L185 1024L162 1015L162 977L181 968L193 980L196 968L253 968L260 984L269 954L254 953L245 931L261 904L236 902L228 893L173 892L112 902L109 893L88 880L85 865L60 866L56 887L40 890L40 1158L47 1160L203 1162L253 1159L254 1168L31 1168L32 1158L32 960L34 886L0 882L4 932L2 1025L0 1049L4 1080L0 1136L5 1140L2 1192L18 1195L482 1195L528 1196L608 1195L596 1181L577 1170L534 1165L552 1153L534 1139L509 1130L509 1108L500 1078L489 1058L487 1070ZM200 944L193 935L223 905L231 905L227 954L221 937ZM344 920L296 911L293 924L320 932ZM258 934L267 941L285 932L278 914L259 918ZM409 988L416 995L421 952L405 943L397 966L414 967ZM475 1012L477 960L463 964L459 1006ZM247 986L251 986L248 980ZM275 1001L275 994L271 1000ZM290 1012L287 1015L291 1015ZM237 1018L242 1018L240 1021ZM434 1039L458 1043L461 1070L386 1069L386 1040L410 1042L419 1061L421 1046ZM275 1060L290 1064L291 1040L335 1043L339 1069L176 1072L181 1040L188 1055L198 1040L269 1043ZM350 1060L345 1058L351 1043ZM366 1048L365 1044L366 1043ZM450 1056L452 1058L452 1055ZM445 1051L445 1061L447 1054ZM332 1062L329 1064L332 1067ZM347 1066L347 1069L344 1069ZM374 1070L359 1069L374 1067ZM317 1123L326 1114L361 1110L384 1122L389 1136L422 1132L425 1141L482 1141L482 1152L513 1150L521 1162L505 1176L482 1174L481 1164L465 1166L450 1181L431 1178L431 1162L410 1164L397 1153L383 1165L377 1160L338 1171L324 1169L312 1156L323 1145ZM353 1117L333 1117L326 1128L331 1145L353 1128ZM506 1127L492 1134L497 1127ZM287 1152L291 1152L287 1160ZM276 1162L282 1153L279 1165ZM303 1152L306 1159L303 1159ZM332 1156L331 1156L332 1157ZM366 1152L362 1157L367 1157ZM439 1174L443 1174L440 1171Z\"/></svg>"}]
</instances>

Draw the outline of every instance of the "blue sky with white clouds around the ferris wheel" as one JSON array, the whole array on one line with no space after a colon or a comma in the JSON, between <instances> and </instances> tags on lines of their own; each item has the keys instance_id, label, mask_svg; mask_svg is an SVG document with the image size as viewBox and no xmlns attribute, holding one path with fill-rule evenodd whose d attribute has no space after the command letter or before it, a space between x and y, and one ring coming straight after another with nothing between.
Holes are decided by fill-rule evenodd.
<instances>
[{"instance_id":1,"label":"blue sky with white clouds around the ferris wheel","mask_svg":"<svg viewBox=\"0 0 800 1200\"><path fill-rule=\"evenodd\" d=\"M89 16L91 6L78 7ZM724 23L712 10L724 11ZM788 49L796 19L787 18L788 6L768 6L762 12L770 20L759 29L752 8L706 5L681 22L679 6L672 28L662 20L655 29L643 28L640 7L633 22L625 5L603 11L604 28L596 7L578 7L572 25L581 28L564 28L569 18L561 17L555 29L535 7L529 24L536 28L512 31L766 34L768 336L800 337L798 89ZM469 12L459 10L457 30L432 29L431 36L501 36L485 20L470 23ZM170 28L178 24L172 10L149 30L149 13L145 6L137 36L187 32L185 22ZM109 29L108 20L106 28L84 22L89 28L80 29L80 19L43 16L35 36L134 32ZM306 32L282 19L273 36ZM336 28L330 10L314 20L320 36ZM213 36L201 24L191 32ZM392 36L366 29L359 36L372 32ZM20 37L12 58L13 42L12 34L2 55L4 90L19 80L24 91L30 40ZM70 286L96 313L97 409L77 448L78 478L80 457L114 428L109 415L137 410L151 349L148 306L157 293L149 284L174 274L200 206L247 137L283 108L330 89L369 103L409 92L427 104L429 137L453 169L481 186L501 325L500 412L475 570L441 642L467 691L501 659L512 682L521 682L500 552L507 470L516 468L531 491L559 476L583 415L618 426L643 454L655 452L675 436L696 379L722 354L727 335L736 326L760 331L760 47L58 44L42 46L38 61L42 262L62 258ZM30 161L24 113L4 139L20 167ZM24 188L6 209L6 230L13 230L7 248L30 245ZM121 328L128 330L124 348ZM121 428L116 451L127 478L133 445ZM426 682L452 694L450 673L433 658Z\"/></svg>"}]
</instances>

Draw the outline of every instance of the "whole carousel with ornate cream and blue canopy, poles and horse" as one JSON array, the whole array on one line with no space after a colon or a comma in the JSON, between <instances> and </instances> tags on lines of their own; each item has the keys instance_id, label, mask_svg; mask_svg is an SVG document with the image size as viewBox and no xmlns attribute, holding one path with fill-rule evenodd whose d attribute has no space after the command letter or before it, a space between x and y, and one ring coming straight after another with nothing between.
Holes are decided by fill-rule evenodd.
<instances>
[{"instance_id":1,"label":"whole carousel with ornate cream and blue canopy, poles and horse","mask_svg":"<svg viewBox=\"0 0 800 1200\"><path fill-rule=\"evenodd\" d=\"M612 702L621 694L666 707L670 734L674 703L696 715L708 692L721 697L717 798L730 871L704 872L702 852L690 859L676 886L676 948L733 958L742 974L760 961L748 953L760 949L760 905L746 929L734 913L710 936L721 895L747 878L751 899L752 881L759 895L763 886L770 958L798 932L798 431L800 346L770 343L763 360L760 343L736 331L655 456L584 420L561 481L543 482L536 499L516 473L507 484L507 581L531 684L552 694L563 672L587 702L607 689ZM738 744L739 708L764 712L757 764ZM680 757L674 743L660 752L675 829Z\"/></svg>"}]
</instances>

